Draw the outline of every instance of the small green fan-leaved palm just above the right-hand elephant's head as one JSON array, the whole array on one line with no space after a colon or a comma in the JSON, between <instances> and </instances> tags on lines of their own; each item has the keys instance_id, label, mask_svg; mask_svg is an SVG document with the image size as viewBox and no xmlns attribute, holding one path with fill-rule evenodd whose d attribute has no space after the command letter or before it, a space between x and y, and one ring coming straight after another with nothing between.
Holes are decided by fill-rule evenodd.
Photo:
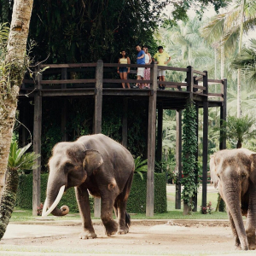
<instances>
[{"instance_id":1,"label":"small green fan-leaved palm just above the right-hand elephant's head","mask_svg":"<svg viewBox=\"0 0 256 256\"><path fill-rule=\"evenodd\" d=\"M241 148L241 143L256 136L255 122L256 119L248 114L240 118L228 116L227 121L223 121L221 129L231 144Z\"/></svg>"}]
</instances>

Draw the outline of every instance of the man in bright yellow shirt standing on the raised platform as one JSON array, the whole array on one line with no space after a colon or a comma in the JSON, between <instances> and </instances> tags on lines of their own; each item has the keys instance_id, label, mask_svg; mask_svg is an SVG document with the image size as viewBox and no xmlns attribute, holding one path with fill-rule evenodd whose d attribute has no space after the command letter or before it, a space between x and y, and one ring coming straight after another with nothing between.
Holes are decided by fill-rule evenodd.
<instances>
[{"instance_id":1,"label":"man in bright yellow shirt standing on the raised platform","mask_svg":"<svg viewBox=\"0 0 256 256\"><path fill-rule=\"evenodd\" d=\"M167 64L171 61L171 56L164 51L162 46L158 47L158 52L154 55L153 61L156 61L158 66L167 66ZM160 81L166 81L166 70L159 69L158 76ZM160 90L165 90L165 84L159 84Z\"/></svg>"}]
</instances>

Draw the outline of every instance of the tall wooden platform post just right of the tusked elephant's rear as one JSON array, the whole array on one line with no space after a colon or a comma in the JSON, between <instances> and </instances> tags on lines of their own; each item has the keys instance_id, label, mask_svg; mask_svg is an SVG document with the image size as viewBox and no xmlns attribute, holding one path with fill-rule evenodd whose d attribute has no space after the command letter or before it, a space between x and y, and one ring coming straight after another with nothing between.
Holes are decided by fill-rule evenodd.
<instances>
[{"instance_id":1,"label":"tall wooden platform post just right of the tusked elephant's rear","mask_svg":"<svg viewBox=\"0 0 256 256\"><path fill-rule=\"evenodd\" d=\"M154 216L154 148L155 148L155 121L156 121L156 94L157 94L157 64L151 70L153 81L148 102L148 172L147 172L147 206L146 216Z\"/></svg>"}]
</instances>

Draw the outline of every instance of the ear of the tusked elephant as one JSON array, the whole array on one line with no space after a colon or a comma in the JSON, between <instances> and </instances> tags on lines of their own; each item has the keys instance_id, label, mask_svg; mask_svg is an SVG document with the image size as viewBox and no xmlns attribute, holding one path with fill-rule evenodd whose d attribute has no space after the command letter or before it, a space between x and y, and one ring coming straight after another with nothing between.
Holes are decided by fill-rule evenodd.
<instances>
[{"instance_id":1,"label":"ear of the tusked elephant","mask_svg":"<svg viewBox=\"0 0 256 256\"><path fill-rule=\"evenodd\" d=\"M83 166L89 176L94 170L102 166L102 163L102 154L99 151L93 149L85 151Z\"/></svg>"}]
</instances>

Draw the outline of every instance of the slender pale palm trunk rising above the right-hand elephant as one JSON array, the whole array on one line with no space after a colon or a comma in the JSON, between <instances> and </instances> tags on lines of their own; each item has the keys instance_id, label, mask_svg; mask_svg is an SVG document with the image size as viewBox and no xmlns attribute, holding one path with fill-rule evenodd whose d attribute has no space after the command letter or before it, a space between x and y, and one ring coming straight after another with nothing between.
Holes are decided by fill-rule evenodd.
<instances>
[{"instance_id":1,"label":"slender pale palm trunk rising above the right-hand elephant","mask_svg":"<svg viewBox=\"0 0 256 256\"><path fill-rule=\"evenodd\" d=\"M243 34L243 20L244 20L244 8L246 0L242 1L241 4L241 21L240 21L240 36L239 36L239 49L238 54L241 55L241 44L242 44L242 34ZM241 68L237 70L237 118L241 117Z\"/></svg>"}]
</instances>

